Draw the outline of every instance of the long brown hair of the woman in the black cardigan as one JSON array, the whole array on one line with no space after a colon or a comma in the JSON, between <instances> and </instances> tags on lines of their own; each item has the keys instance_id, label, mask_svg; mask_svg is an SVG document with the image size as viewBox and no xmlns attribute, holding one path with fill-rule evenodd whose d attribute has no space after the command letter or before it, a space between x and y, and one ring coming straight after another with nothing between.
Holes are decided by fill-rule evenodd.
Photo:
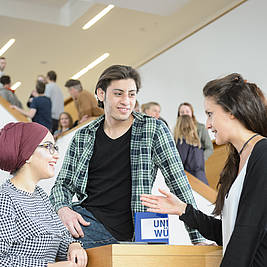
<instances>
[{"instance_id":1,"label":"long brown hair of the woman in the black cardigan","mask_svg":"<svg viewBox=\"0 0 267 267\"><path fill-rule=\"evenodd\" d=\"M226 112L234 115L246 129L267 136L267 113L262 92L257 86L246 83L240 74L233 73L208 82L203 94L212 98ZM231 143L228 147L228 158L217 185L219 191L213 211L215 215L221 215L225 196L238 174L240 162L238 151Z\"/></svg>"}]
</instances>

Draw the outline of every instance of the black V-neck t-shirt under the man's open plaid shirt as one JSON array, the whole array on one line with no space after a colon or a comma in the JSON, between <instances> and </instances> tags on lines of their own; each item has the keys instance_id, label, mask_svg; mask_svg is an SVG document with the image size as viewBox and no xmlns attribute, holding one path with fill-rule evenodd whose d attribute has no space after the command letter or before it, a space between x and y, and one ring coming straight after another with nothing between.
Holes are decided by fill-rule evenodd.
<instances>
[{"instance_id":1,"label":"black V-neck t-shirt under the man's open plaid shirt","mask_svg":"<svg viewBox=\"0 0 267 267\"><path fill-rule=\"evenodd\" d=\"M119 241L131 240L131 128L116 139L109 138L102 122L96 132L94 152L89 163L86 192L82 206Z\"/></svg>"}]
</instances>

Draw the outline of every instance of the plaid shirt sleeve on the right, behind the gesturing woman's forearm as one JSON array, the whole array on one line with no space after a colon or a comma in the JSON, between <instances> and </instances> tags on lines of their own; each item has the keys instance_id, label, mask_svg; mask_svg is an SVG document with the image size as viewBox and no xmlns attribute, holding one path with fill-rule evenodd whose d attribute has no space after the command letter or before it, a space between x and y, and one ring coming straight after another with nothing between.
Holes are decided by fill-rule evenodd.
<instances>
[{"instance_id":1,"label":"plaid shirt sleeve on the right, behind the gesturing woman's forearm","mask_svg":"<svg viewBox=\"0 0 267 267\"><path fill-rule=\"evenodd\" d=\"M183 202L197 208L191 186L185 175L183 164L176 149L169 129L161 121L154 136L154 155L167 186ZM205 239L196 230L186 226L192 243L203 242Z\"/></svg>"}]
</instances>

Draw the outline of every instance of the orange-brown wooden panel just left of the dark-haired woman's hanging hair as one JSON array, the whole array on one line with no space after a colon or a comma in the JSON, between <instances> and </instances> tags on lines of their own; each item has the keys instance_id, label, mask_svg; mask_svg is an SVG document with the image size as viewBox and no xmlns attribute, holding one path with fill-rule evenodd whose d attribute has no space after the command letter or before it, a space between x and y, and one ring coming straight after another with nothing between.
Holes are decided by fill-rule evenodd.
<instances>
[{"instance_id":1,"label":"orange-brown wooden panel just left of the dark-haired woman's hanging hair","mask_svg":"<svg viewBox=\"0 0 267 267\"><path fill-rule=\"evenodd\" d=\"M220 173L228 157L228 152L227 145L218 146L214 143L213 147L214 152L206 161L205 170L210 187L217 190L216 186L220 178Z\"/></svg>"}]
</instances>

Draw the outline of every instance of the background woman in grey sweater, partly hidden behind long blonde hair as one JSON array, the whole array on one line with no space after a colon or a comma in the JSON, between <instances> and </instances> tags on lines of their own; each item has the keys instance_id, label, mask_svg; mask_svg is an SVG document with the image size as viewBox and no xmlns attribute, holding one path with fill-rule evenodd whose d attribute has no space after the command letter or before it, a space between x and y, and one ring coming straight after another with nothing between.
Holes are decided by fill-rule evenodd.
<instances>
[{"instance_id":1,"label":"background woman in grey sweater, partly hidden behind long blonde hair","mask_svg":"<svg viewBox=\"0 0 267 267\"><path fill-rule=\"evenodd\" d=\"M189 115L190 117L192 117L197 127L197 133L200 139L201 148L204 150L204 159L207 160L213 153L213 144L210 140L210 136L205 125L196 120L194 109L190 103L184 102L180 104L180 106L178 107L177 117L181 115Z\"/></svg>"}]
</instances>

